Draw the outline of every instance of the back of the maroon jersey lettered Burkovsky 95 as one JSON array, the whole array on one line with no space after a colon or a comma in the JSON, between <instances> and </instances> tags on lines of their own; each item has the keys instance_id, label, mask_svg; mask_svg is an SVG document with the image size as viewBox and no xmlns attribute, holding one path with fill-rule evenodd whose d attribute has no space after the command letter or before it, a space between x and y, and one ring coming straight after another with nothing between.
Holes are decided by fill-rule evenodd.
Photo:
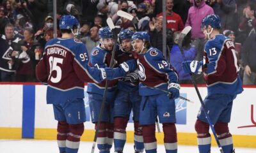
<instances>
[{"instance_id":1,"label":"back of the maroon jersey lettered Burkovsky 95","mask_svg":"<svg viewBox=\"0 0 256 153\"><path fill-rule=\"evenodd\" d=\"M74 70L74 56L81 44L74 38L56 38L45 45L47 60L47 84L58 89L84 87Z\"/></svg>"}]
</instances>

